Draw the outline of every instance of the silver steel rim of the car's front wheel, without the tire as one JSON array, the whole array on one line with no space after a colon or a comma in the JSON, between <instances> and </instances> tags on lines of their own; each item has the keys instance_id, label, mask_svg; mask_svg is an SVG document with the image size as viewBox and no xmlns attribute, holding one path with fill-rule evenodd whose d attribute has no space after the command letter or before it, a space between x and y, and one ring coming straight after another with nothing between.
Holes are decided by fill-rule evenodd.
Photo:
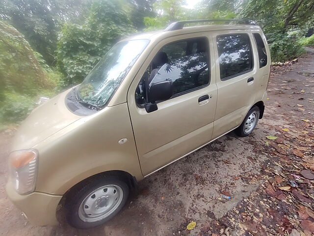
<instances>
[{"instance_id":1,"label":"silver steel rim of the car's front wheel, without the tire","mask_svg":"<svg viewBox=\"0 0 314 236\"><path fill-rule=\"evenodd\" d=\"M105 185L92 191L81 202L78 216L84 222L100 221L112 214L121 204L123 190L118 185Z\"/></svg>"}]
</instances>

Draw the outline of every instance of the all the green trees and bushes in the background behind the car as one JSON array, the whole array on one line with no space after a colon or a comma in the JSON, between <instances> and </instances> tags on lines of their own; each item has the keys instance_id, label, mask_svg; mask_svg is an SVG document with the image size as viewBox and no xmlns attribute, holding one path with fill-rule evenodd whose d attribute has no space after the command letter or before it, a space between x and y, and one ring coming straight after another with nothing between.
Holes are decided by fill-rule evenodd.
<instances>
[{"instance_id":1,"label":"all the green trees and bushes in the background behind the car","mask_svg":"<svg viewBox=\"0 0 314 236\"><path fill-rule=\"evenodd\" d=\"M275 62L299 56L302 46L314 46L314 36L302 38L314 25L314 0L185 5L185 0L0 0L0 123L22 120L39 96L80 83L115 42L145 26L152 30L179 20L249 18L265 32ZM59 71L51 67L55 62Z\"/></svg>"}]
</instances>

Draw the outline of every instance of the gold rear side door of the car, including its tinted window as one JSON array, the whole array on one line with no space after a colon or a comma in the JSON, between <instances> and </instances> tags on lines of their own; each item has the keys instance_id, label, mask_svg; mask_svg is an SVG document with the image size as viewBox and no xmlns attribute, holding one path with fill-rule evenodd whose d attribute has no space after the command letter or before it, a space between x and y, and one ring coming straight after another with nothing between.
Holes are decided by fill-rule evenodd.
<instances>
[{"instance_id":1,"label":"gold rear side door of the car, including its tinted window","mask_svg":"<svg viewBox=\"0 0 314 236\"><path fill-rule=\"evenodd\" d=\"M216 57L217 109L212 138L241 124L254 104L257 56L253 36L246 31L226 31L213 35Z\"/></svg>"}]
</instances>

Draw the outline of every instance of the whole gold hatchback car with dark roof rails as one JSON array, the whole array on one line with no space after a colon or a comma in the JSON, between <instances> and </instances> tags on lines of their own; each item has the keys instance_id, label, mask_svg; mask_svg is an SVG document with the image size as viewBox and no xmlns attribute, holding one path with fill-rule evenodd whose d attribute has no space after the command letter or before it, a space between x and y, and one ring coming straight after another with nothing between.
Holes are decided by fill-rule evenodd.
<instances>
[{"instance_id":1,"label":"whole gold hatchback car with dark roof rails","mask_svg":"<svg viewBox=\"0 0 314 236\"><path fill-rule=\"evenodd\" d=\"M187 24L218 22L216 25ZM137 181L262 118L270 73L249 20L175 22L112 47L78 86L37 107L9 155L6 192L36 225L86 229L125 205ZM61 201L62 200L62 201Z\"/></svg>"}]
</instances>

